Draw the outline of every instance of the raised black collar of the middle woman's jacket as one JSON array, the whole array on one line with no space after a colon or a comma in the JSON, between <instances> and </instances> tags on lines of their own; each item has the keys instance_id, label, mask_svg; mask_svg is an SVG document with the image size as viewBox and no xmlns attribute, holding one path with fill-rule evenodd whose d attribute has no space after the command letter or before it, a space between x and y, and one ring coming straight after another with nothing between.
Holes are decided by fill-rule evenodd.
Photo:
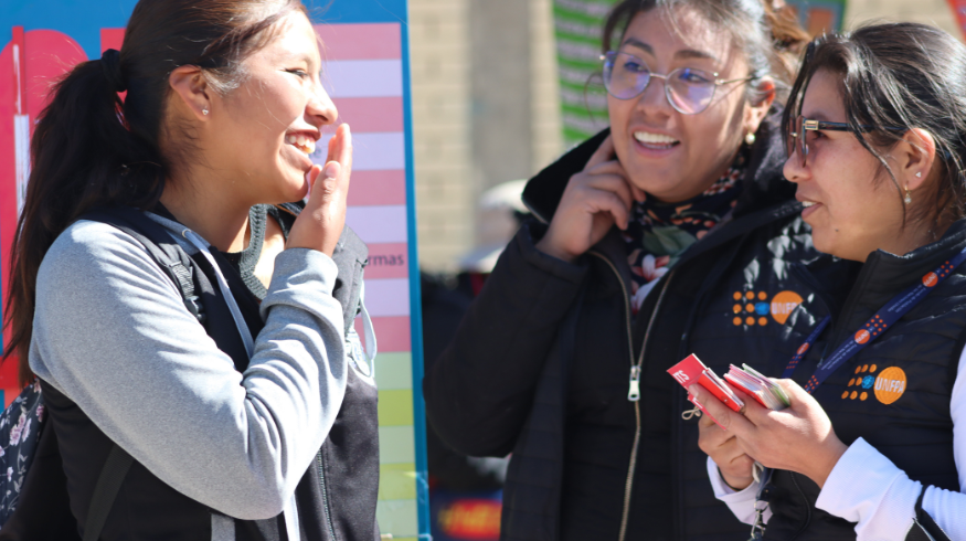
<instances>
[{"instance_id":1,"label":"raised black collar of the middle woman's jacket","mask_svg":"<svg viewBox=\"0 0 966 541\"><path fill-rule=\"evenodd\" d=\"M742 194L734 209L735 219L795 198L795 184L787 182L782 173L785 147L781 121L782 108L773 107L758 128ZM530 179L523 189L523 203L538 219L550 223L567 181L584 169L608 135L609 128L580 144Z\"/></svg>"}]
</instances>

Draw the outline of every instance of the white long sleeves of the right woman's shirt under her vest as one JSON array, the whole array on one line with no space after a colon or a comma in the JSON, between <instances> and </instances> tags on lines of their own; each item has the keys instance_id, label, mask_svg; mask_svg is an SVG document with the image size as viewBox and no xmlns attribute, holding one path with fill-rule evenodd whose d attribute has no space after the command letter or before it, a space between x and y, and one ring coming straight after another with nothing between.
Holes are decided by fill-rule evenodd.
<instances>
[{"instance_id":1,"label":"white long sleeves of the right woman's shirt under her vest","mask_svg":"<svg viewBox=\"0 0 966 541\"><path fill-rule=\"evenodd\" d=\"M966 370L966 350L959 356L959 372ZM953 417L953 455L960 492L926 487L923 509L949 535L966 539L966 378L957 375L949 402ZM708 458L708 476L714 496L725 502L742 522L755 519L760 484L741 491L724 484L718 465ZM902 541L915 517L915 501L923 486L905 475L861 437L856 439L829 474L815 506L856 524L858 541ZM767 523L771 510L764 513Z\"/></svg>"}]
</instances>

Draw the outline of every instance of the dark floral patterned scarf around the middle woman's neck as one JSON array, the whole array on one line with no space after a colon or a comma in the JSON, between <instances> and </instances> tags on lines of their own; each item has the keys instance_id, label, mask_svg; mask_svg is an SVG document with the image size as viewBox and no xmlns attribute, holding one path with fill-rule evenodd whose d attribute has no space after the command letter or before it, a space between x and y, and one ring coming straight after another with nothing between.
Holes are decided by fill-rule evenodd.
<instances>
[{"instance_id":1,"label":"dark floral patterned scarf around the middle woman's neck","mask_svg":"<svg viewBox=\"0 0 966 541\"><path fill-rule=\"evenodd\" d=\"M623 232L630 264L630 307L640 309L657 279L677 263L684 250L701 240L731 213L741 193L749 147L742 146L728 172L700 195L680 203L648 199L634 202Z\"/></svg>"}]
</instances>

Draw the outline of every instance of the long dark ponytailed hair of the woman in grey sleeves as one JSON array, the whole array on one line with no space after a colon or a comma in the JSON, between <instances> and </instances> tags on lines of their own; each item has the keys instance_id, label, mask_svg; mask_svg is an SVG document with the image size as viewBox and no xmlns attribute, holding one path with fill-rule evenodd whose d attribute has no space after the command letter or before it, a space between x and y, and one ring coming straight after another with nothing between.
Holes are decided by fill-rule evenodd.
<instances>
[{"instance_id":1,"label":"long dark ponytailed hair of the woman in grey sleeves","mask_svg":"<svg viewBox=\"0 0 966 541\"><path fill-rule=\"evenodd\" d=\"M299 0L140 0L119 54L83 62L53 87L31 139L32 169L12 247L3 358L28 351L36 273L54 240L97 205L153 206L171 172L191 158L191 138L167 118L168 76L195 65L219 93L237 87L242 62ZM270 11L270 14L268 12ZM127 91L121 102L118 92ZM163 148L163 151L162 151Z\"/></svg>"}]
</instances>

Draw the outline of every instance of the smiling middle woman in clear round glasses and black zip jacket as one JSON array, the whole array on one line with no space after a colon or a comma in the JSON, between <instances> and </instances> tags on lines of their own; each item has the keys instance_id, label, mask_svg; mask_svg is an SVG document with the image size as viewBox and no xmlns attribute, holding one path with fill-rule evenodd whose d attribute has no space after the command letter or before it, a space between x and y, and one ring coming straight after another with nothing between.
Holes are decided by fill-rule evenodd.
<instances>
[{"instance_id":1,"label":"smiling middle woman in clear round glasses and black zip jacket","mask_svg":"<svg viewBox=\"0 0 966 541\"><path fill-rule=\"evenodd\" d=\"M503 539L746 533L714 499L665 371L691 352L720 369L778 347L798 299L784 269L816 255L782 178L777 104L794 76L775 43L804 33L761 0L611 13L611 129L529 182L540 223L424 383L444 441L512 452Z\"/></svg>"}]
</instances>

